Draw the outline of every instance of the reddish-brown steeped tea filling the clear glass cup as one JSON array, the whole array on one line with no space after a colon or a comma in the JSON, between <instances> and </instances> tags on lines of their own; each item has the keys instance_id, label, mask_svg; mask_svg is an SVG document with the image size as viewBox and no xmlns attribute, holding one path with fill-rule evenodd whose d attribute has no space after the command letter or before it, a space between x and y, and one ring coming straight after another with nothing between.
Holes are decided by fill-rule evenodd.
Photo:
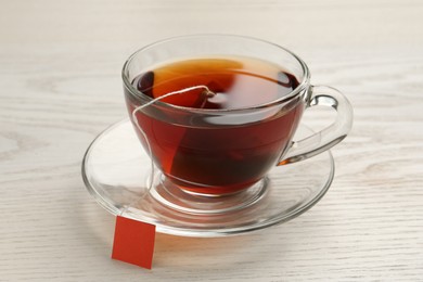
<instances>
[{"instance_id":1,"label":"reddish-brown steeped tea filling the clear glass cup","mask_svg":"<svg viewBox=\"0 0 423 282\"><path fill-rule=\"evenodd\" d=\"M298 80L278 65L233 56L170 62L140 74L133 86L152 99L205 86L214 95L204 95L204 88L200 87L159 102L191 108L235 110L274 102L291 93ZM129 111L140 105L136 99L127 102ZM159 114L159 118L140 111L137 119L148 137L155 164L174 183L192 192L226 194L254 184L277 164L304 106L303 100L296 99L289 110L253 123L245 123L248 116L232 116L233 126L195 124L198 116L192 123L178 123L187 113L172 111ZM241 119L238 123L233 118Z\"/></svg>"}]
</instances>

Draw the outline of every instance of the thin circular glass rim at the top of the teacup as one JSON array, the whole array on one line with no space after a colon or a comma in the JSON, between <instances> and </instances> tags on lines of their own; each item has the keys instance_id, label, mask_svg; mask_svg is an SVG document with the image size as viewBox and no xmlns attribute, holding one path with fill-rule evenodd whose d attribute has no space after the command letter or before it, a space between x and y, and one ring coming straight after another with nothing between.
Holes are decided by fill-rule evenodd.
<instances>
[{"instance_id":1,"label":"thin circular glass rim at the top of the teacup","mask_svg":"<svg viewBox=\"0 0 423 282\"><path fill-rule=\"evenodd\" d=\"M238 112L238 111L245 111L245 110L260 110L260 108L265 108L265 107L271 107L271 106L274 106L274 105L279 105L279 104L282 104L282 103L285 103L285 102L289 102L289 101L293 100L299 93L302 93L304 89L307 89L307 87L310 84L310 72L309 72L308 66L306 65L306 63L298 55L296 55L294 52L290 51L289 49L286 49L286 48L284 48L284 47L282 47L280 44L277 44L277 43L264 40L264 39L249 37L249 36L229 35L229 34L198 34L198 35L185 35L185 36L175 36L175 37L165 38L165 39L152 42L150 44L146 44L146 46L138 49L137 51L134 51L126 60L126 62L125 62L125 64L123 66L123 69L121 69L121 78L124 80L125 88L136 99L143 99L143 100L145 100L145 103L149 103L149 102L153 101L154 100L153 98L151 98L151 97L144 94L143 92L139 91L129 81L127 74L129 72L128 67L129 67L129 64L131 63L131 61L140 52L143 52L145 50L154 48L155 46L163 44L163 43L166 43L168 41L174 41L174 40L190 39L190 38L202 38L202 37L220 37L220 38L231 37L231 38L248 39L248 40L254 40L254 41L258 41L258 42L262 42L262 43L267 43L267 44L277 47L278 49L280 49L282 51L285 51L286 53L292 55L300 64L302 69L303 69L304 78L302 79L299 85L293 91L291 91L289 94L286 94L284 97L281 97L281 98L277 99L277 100L270 101L270 102L266 102L266 103L257 104L257 105L252 105L252 106L242 106L242 107L232 107L232 108L197 108L197 107L188 107L188 106L175 105L175 104L163 102L161 100L154 102L154 104L161 105L161 106L165 106L165 107L168 107L168 108L172 108L172 110L179 110L179 111L184 111L184 112L195 112L195 113L221 113L221 112Z\"/></svg>"}]
</instances>

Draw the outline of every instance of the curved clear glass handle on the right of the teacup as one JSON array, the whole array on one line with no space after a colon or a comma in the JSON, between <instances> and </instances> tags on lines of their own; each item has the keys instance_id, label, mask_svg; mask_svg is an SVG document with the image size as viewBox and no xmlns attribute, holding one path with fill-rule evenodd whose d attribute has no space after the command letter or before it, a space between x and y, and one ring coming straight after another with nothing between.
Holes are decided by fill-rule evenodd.
<instances>
[{"instance_id":1,"label":"curved clear glass handle on the right of the teacup","mask_svg":"<svg viewBox=\"0 0 423 282\"><path fill-rule=\"evenodd\" d=\"M315 156L339 143L352 126L352 107L339 91L328 86L310 86L307 108L316 105L329 106L337 112L335 121L315 134L292 141L287 153L278 165L285 165ZM307 110L306 108L306 110Z\"/></svg>"}]
</instances>

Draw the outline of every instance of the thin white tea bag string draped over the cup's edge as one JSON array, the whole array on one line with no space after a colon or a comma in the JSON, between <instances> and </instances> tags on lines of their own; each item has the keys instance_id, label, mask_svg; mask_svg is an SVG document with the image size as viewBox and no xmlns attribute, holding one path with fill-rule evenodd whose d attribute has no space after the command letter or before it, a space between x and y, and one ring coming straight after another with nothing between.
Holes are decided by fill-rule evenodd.
<instances>
[{"instance_id":1,"label":"thin white tea bag string draped over the cup's edge","mask_svg":"<svg viewBox=\"0 0 423 282\"><path fill-rule=\"evenodd\" d=\"M202 95L203 98L203 101L202 101L202 104L200 107L203 107L205 105L205 103L207 102L207 99L208 98L211 98L211 97L215 97L216 93L213 92L210 89L208 89L208 87L204 86L204 85L201 85L201 86L193 86L193 87L188 87L188 88L183 88L181 90L177 90L177 91L172 91L172 92L169 92L169 93L166 93L164 95L161 95L161 97L157 97L153 100L151 100L150 102L145 103L145 104L142 104L142 105L139 105L137 106L136 108L133 108L132 113L131 113L131 117L132 117L132 121L133 124L137 126L138 130L140 131L140 133L142 134L142 137L144 138L145 140L145 143L146 143L146 149L149 151L149 156L150 156L150 166L151 166L151 175L150 175L150 179L149 179L149 183L148 183L148 191L150 191L153 187L153 182L154 182L154 162L153 162L153 152L152 152L152 148L151 148L151 144L150 144L150 141L149 141L149 138L145 133L144 130L142 130L140 124L139 124L139 120L137 118L137 112L143 110L144 107L148 107L152 104L154 104L155 102L162 100L162 99L165 99L165 98L168 98L168 97L172 97L172 95L177 95L177 94L184 94L184 93L188 93L189 91L192 91L192 90L197 90L197 89L203 89L203 91L200 93L200 95ZM132 201L131 203L129 203L129 205L126 205L121 211L120 211L120 216L123 216L128 209L129 207L131 207L136 202L138 201L141 201L142 198L145 197L145 194L142 195L140 198L136 198L134 201Z\"/></svg>"}]
</instances>

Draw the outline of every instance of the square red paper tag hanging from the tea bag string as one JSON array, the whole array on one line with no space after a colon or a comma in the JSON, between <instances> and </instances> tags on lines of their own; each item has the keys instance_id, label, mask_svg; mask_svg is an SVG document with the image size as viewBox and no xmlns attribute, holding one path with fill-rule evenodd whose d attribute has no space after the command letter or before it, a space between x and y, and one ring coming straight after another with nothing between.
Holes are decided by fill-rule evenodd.
<instances>
[{"instance_id":1,"label":"square red paper tag hanging from the tea bag string","mask_svg":"<svg viewBox=\"0 0 423 282\"><path fill-rule=\"evenodd\" d=\"M116 217L112 258L151 269L156 227L126 217Z\"/></svg>"}]
</instances>

